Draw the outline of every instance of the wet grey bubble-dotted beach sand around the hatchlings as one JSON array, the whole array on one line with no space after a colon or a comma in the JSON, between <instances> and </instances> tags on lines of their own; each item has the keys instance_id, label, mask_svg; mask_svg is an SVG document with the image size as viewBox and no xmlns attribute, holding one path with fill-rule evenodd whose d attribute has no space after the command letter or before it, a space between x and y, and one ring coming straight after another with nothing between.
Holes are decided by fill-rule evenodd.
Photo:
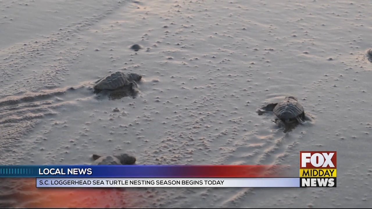
<instances>
[{"instance_id":1,"label":"wet grey bubble-dotted beach sand around the hatchlings","mask_svg":"<svg viewBox=\"0 0 372 209\"><path fill-rule=\"evenodd\" d=\"M299 151L329 150L337 188L131 189L125 207L370 207L368 3L0 1L1 164L126 152L137 164L290 164L297 176ZM117 70L143 75L137 98L93 93ZM312 121L283 133L256 110L287 95ZM20 188L0 198L47 206Z\"/></svg>"}]
</instances>

